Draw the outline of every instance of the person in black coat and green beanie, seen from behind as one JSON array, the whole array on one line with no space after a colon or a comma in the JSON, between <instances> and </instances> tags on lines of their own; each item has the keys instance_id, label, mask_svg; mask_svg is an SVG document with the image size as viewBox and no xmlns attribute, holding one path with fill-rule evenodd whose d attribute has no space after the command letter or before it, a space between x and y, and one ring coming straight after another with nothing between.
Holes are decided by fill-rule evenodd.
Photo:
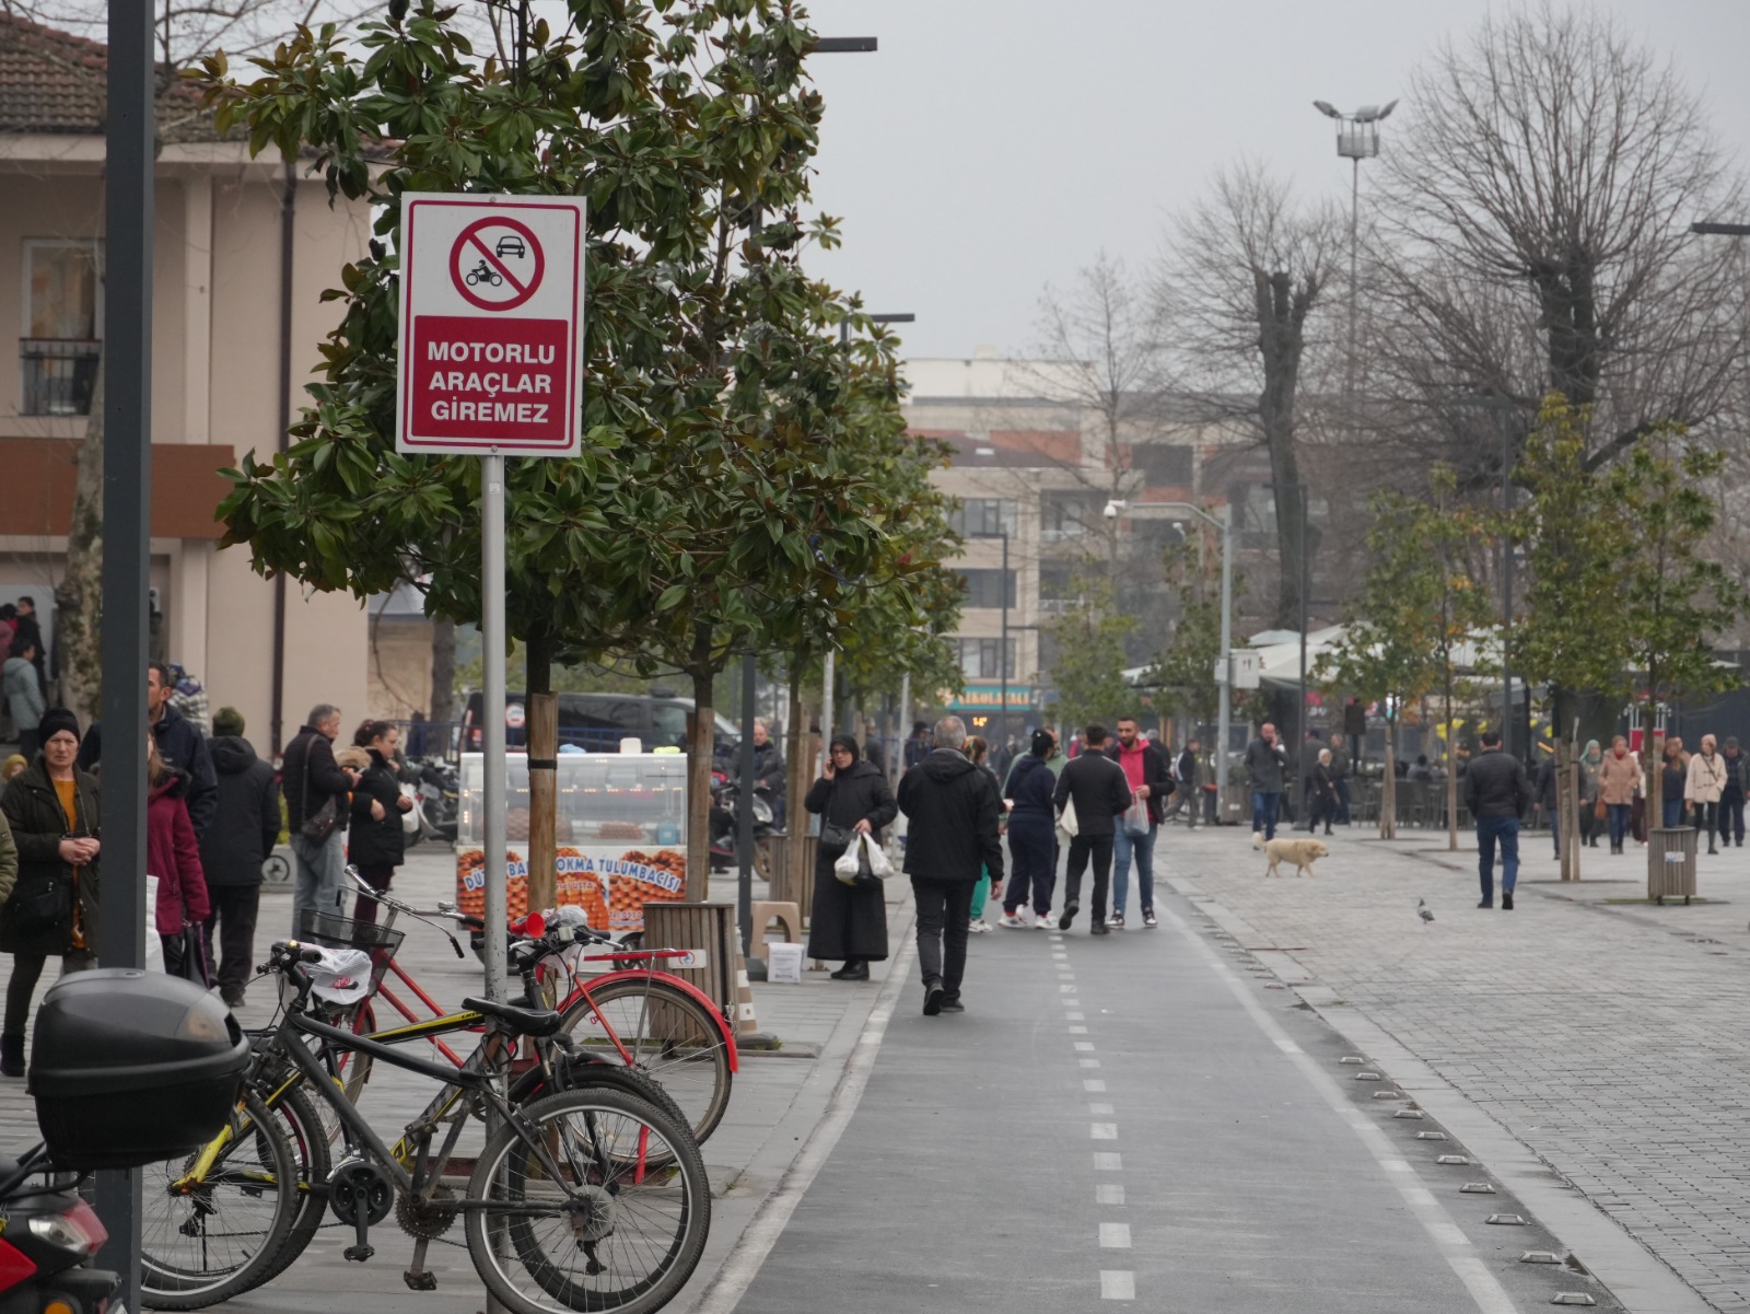
<instances>
[{"instance_id":1,"label":"person in black coat and green beanie, seen from behind","mask_svg":"<svg viewBox=\"0 0 1750 1314\"><path fill-rule=\"evenodd\" d=\"M273 768L243 738L243 716L234 707L214 714L208 747L219 773L219 807L201 836L201 871L212 903L206 943L219 950L219 997L229 1008L242 1008L256 971L261 864L280 842L280 786Z\"/></svg>"}]
</instances>

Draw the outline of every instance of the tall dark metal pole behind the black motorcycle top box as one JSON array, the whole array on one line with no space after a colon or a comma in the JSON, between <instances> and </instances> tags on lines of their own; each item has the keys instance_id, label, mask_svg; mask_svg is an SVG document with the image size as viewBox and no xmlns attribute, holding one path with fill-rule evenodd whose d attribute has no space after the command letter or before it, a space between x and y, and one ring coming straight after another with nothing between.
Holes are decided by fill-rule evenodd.
<instances>
[{"instance_id":1,"label":"tall dark metal pole behind the black motorcycle top box","mask_svg":"<svg viewBox=\"0 0 1750 1314\"><path fill-rule=\"evenodd\" d=\"M145 661L152 511L154 5L108 9L103 178L103 899L98 962L145 964ZM100 1262L140 1309L140 1174L98 1174Z\"/></svg>"}]
</instances>

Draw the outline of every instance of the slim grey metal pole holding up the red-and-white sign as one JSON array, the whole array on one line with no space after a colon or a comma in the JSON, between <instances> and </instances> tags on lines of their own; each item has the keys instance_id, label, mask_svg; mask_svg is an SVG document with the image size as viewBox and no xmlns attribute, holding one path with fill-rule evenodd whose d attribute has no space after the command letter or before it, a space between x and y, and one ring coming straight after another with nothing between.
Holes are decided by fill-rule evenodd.
<instances>
[{"instance_id":1,"label":"slim grey metal pole holding up the red-and-white sign","mask_svg":"<svg viewBox=\"0 0 1750 1314\"><path fill-rule=\"evenodd\" d=\"M504 938L508 933L504 870L504 457L480 462L480 653L483 794L486 814L486 999L504 999Z\"/></svg>"}]
</instances>

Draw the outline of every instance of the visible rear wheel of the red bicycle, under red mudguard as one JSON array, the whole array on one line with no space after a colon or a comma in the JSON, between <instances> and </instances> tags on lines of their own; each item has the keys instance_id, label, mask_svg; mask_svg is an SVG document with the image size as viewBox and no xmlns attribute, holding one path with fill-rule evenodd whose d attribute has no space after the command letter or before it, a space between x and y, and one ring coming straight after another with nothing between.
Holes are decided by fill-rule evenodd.
<instances>
[{"instance_id":1,"label":"visible rear wheel of the red bicycle, under red mudguard","mask_svg":"<svg viewBox=\"0 0 1750 1314\"><path fill-rule=\"evenodd\" d=\"M584 987L560 1025L584 1052L620 1055L656 1078L704 1144L730 1106L730 1052L723 1029L693 996L662 978Z\"/></svg>"}]
</instances>

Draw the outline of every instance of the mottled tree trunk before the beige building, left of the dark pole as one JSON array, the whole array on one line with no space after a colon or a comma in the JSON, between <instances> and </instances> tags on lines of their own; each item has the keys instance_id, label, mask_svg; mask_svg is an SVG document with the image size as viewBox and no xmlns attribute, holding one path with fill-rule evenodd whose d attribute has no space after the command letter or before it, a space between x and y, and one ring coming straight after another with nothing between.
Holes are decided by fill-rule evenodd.
<instances>
[{"instance_id":1,"label":"mottled tree trunk before the beige building, left of the dark pole","mask_svg":"<svg viewBox=\"0 0 1750 1314\"><path fill-rule=\"evenodd\" d=\"M79 723L98 717L103 688L103 362L91 385L91 416L79 444L66 570L54 590L54 656L60 703ZM44 689L47 693L47 689ZM51 700L54 702L54 700Z\"/></svg>"}]
</instances>

